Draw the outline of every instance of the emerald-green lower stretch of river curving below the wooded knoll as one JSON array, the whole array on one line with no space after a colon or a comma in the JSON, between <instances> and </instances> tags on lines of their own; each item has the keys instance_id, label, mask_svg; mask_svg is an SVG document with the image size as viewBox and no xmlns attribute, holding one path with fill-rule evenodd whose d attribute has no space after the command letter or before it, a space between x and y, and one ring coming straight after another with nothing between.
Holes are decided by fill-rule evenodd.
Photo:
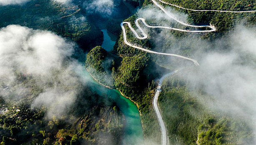
<instances>
[{"instance_id":1,"label":"emerald-green lower stretch of river curving below the wooded knoll","mask_svg":"<svg viewBox=\"0 0 256 145\"><path fill-rule=\"evenodd\" d=\"M86 75L87 74L87 75ZM125 115L125 131L122 145L143 145L144 135L141 123L141 114L137 105L131 99L123 96L117 89L110 89L100 85L89 72L85 70L85 76L90 78L90 88L97 94L108 96L117 104L120 111Z\"/></svg>"}]
</instances>

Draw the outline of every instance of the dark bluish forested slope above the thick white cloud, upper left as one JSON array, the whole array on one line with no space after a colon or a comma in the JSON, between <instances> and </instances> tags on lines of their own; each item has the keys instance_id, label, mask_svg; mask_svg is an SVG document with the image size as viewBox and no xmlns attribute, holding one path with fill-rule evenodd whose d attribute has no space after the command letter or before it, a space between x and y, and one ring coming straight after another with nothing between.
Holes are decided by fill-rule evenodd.
<instances>
[{"instance_id":1,"label":"dark bluish forested slope above the thick white cloud, upper left","mask_svg":"<svg viewBox=\"0 0 256 145\"><path fill-rule=\"evenodd\" d=\"M19 24L53 31L88 49L101 44L103 34L83 15L85 10L80 6L63 5L54 0L31 0L21 6L0 6L0 27Z\"/></svg>"}]
</instances>

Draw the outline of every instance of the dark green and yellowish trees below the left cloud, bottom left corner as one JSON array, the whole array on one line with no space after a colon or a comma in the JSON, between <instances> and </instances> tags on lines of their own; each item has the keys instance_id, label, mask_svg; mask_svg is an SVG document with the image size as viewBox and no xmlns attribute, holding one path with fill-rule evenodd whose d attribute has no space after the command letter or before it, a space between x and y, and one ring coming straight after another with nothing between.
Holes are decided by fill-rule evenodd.
<instances>
[{"instance_id":1,"label":"dark green and yellowish trees below the left cloud, bottom left corner","mask_svg":"<svg viewBox=\"0 0 256 145\"><path fill-rule=\"evenodd\" d=\"M85 93L90 98L101 98L92 92ZM79 101L83 103L71 108L79 108L76 110L79 114L70 111L61 119L55 116L44 118L45 108L30 109L25 104L4 104L8 111L0 116L1 145L119 145L124 118L113 109L117 106L90 100L93 105L84 107L88 98L80 98Z\"/></svg>"}]
</instances>

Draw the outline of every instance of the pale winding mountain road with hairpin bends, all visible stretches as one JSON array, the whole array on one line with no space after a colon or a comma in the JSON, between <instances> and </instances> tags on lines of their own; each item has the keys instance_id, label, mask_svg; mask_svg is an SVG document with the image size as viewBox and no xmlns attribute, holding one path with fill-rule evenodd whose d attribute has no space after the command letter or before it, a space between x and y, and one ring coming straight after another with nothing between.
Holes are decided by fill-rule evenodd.
<instances>
[{"instance_id":1,"label":"pale winding mountain road with hairpin bends, all visible stretches","mask_svg":"<svg viewBox=\"0 0 256 145\"><path fill-rule=\"evenodd\" d=\"M181 22L180 20L178 20L176 17L173 17L170 13L168 13L159 3L156 2L156 0L151 0L156 6L158 6L168 17L170 17L171 19L174 19L176 22L180 23L180 24L183 24L185 26L188 26L188 27L197 27L197 28L211 28L211 30L195 30L195 31L190 31L190 30L183 30L183 29L177 29L177 28L172 28L172 27L164 27L164 26L149 26L146 22L145 22L145 19L143 18L138 18L135 20L135 24L136 24L136 27L138 27L138 29L141 31L141 34L143 35L143 37L140 37L137 32L133 29L133 27L131 27L131 23L129 22L122 22L120 25L122 27L122 30L123 30L123 40L124 40L124 43L127 44L128 46L131 46L133 48L137 48L137 49L140 49L142 51L146 51L148 53L155 53L155 54L161 54L161 55L166 55L166 56L176 56L176 57L179 57L179 58L184 58L184 59L187 59L187 60L190 60L192 61L195 65L199 66L199 63L195 60L195 59L192 59L192 58L187 58L185 56L180 56L180 55L177 55L177 54L172 54L172 53L161 53L161 52L156 52L156 51L151 51L151 50L148 50L148 49L145 49L145 48L141 48L141 47L138 47L138 46L135 46L131 43L129 43L127 41L127 38L126 38L126 31L125 31L125 27L124 27L124 24L128 24L128 27L131 29L131 31L133 32L133 34L135 34L136 38L138 39L147 39L148 36L147 34L143 31L143 29L140 27L138 21L141 21L146 27L149 27L149 28L165 28L165 29L171 29L171 30L176 30L176 31L184 31L184 32L191 32L191 33L198 33L198 32L213 32L213 31L216 31L216 29L213 27L213 26L207 26L207 25L202 25L202 26L196 26L196 25L190 25L190 24L186 24L184 22ZM183 8L183 7L180 7L178 5L173 5L173 4L170 4L170 3L167 3L167 2L163 2L162 0L158 0L164 4L167 4L167 5L172 5L172 6L175 6L175 7L178 7L178 8L181 8L181 9L184 9L184 10L191 10L191 11L214 11L214 12L234 12L234 13L241 13L241 12L256 12L256 10L252 10L252 11L223 11L223 10L193 10L193 9L187 9L187 8ZM163 118L161 116L161 113L159 111L159 108L158 108L158 96L161 92L161 85L162 85L162 82L163 82L163 79L169 75L173 75L173 73L177 72L178 70L174 71L174 72L171 72L171 73L168 73L166 75L164 75L163 77L161 77L159 83L158 83L158 87L156 89L156 94L153 98L153 107L154 107L154 110L156 112L156 116L158 118L158 122L159 122L159 125L161 127L161 145L167 145L167 131L166 131L166 126L163 122Z\"/></svg>"}]
</instances>

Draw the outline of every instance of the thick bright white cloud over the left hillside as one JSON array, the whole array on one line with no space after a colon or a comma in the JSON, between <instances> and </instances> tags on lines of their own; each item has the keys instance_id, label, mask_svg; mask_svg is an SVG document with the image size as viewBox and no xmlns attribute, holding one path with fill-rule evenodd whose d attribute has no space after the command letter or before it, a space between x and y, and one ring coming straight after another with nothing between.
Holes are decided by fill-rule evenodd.
<instances>
[{"instance_id":1,"label":"thick bright white cloud over the left hillside","mask_svg":"<svg viewBox=\"0 0 256 145\"><path fill-rule=\"evenodd\" d=\"M0 46L0 90L6 86L10 88L0 94L5 99L20 100L30 93L32 88L25 88L16 78L18 70L35 79L36 85L43 88L43 92L31 100L32 106L48 107L50 116L65 114L65 108L73 104L79 93L74 86L81 83L73 70L81 70L83 66L70 58L75 44L50 31L9 25L0 29ZM65 59L70 60L66 62ZM15 94L15 97L9 94Z\"/></svg>"}]
</instances>

